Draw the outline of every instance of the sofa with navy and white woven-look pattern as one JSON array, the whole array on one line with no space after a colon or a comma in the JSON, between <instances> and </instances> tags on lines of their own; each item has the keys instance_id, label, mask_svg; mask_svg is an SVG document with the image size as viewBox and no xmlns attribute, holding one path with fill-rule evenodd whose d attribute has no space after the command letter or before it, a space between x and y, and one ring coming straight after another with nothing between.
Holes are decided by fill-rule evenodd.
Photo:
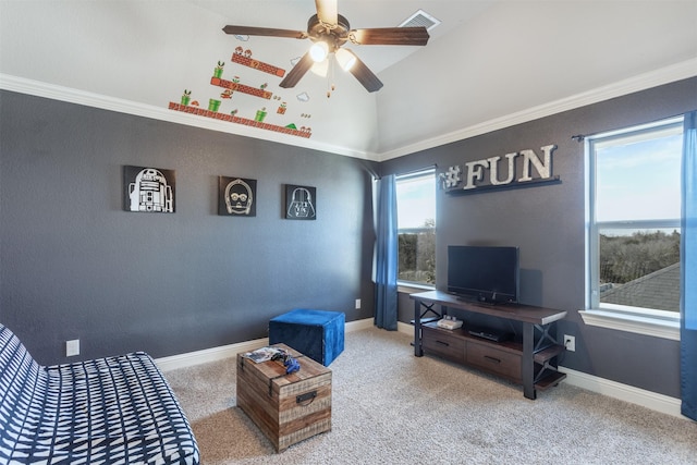
<instances>
[{"instance_id":1,"label":"sofa with navy and white woven-look pattern","mask_svg":"<svg viewBox=\"0 0 697 465\"><path fill-rule=\"evenodd\" d=\"M0 464L199 463L174 393L144 352L41 366L0 325Z\"/></svg>"}]
</instances>

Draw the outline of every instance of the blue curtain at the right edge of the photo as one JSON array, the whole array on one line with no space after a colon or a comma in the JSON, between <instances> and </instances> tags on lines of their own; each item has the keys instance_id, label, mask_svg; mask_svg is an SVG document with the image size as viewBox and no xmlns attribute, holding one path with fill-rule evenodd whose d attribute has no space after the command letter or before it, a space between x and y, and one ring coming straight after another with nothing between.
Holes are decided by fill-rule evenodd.
<instances>
[{"instance_id":1,"label":"blue curtain at the right edge of the photo","mask_svg":"<svg viewBox=\"0 0 697 465\"><path fill-rule=\"evenodd\" d=\"M697 111L685 114L681 218L681 412L697 420Z\"/></svg>"}]
</instances>

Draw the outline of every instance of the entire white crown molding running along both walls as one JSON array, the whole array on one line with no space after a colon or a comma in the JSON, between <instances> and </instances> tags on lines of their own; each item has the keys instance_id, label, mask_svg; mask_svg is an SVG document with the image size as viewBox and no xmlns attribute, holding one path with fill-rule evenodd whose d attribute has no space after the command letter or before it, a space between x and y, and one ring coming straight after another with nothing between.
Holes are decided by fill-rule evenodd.
<instances>
[{"instance_id":1,"label":"entire white crown molding running along both walls","mask_svg":"<svg viewBox=\"0 0 697 465\"><path fill-rule=\"evenodd\" d=\"M48 84L2 73L0 73L0 88L16 91L20 94L27 94L37 97L50 98L53 100L61 100L71 103L84 105L87 107L100 108L102 110L117 111L120 113L150 118L154 120L167 121L171 123L185 124L188 126L201 127L210 131L218 131L245 137L270 140L279 144L321 150L330 154L360 158L364 160L386 161L393 158L402 157L404 155L427 150L453 142L490 133L492 131L502 130L515 124L526 123L528 121L549 117L562 111L573 110L575 108L597 103L611 98L621 97L623 95L645 90L651 87L694 76L697 76L697 58L648 73L644 73L634 77L629 77L603 87L576 94L571 97L533 107L523 111L518 111L516 113L496 118L436 137L430 137L416 144L405 145L393 150L378 154L353 150L347 147L339 147L330 144L322 144L315 140L289 136L270 131L264 131L255 127L248 127L240 124L231 124L224 121L200 118L194 114L172 111L167 108L137 103L130 100L102 96L99 94L87 93L70 87L58 86L54 84Z\"/></svg>"}]
</instances>

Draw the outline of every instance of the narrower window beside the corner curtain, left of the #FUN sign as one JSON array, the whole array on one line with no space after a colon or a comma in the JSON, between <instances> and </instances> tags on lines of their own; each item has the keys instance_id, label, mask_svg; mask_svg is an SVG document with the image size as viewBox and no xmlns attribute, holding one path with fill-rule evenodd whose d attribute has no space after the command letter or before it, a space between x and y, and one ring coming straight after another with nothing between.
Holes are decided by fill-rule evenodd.
<instances>
[{"instance_id":1,"label":"narrower window beside the corner curtain, left of the #FUN sign","mask_svg":"<svg viewBox=\"0 0 697 465\"><path fill-rule=\"evenodd\" d=\"M398 281L436 284L436 169L396 176Z\"/></svg>"}]
</instances>

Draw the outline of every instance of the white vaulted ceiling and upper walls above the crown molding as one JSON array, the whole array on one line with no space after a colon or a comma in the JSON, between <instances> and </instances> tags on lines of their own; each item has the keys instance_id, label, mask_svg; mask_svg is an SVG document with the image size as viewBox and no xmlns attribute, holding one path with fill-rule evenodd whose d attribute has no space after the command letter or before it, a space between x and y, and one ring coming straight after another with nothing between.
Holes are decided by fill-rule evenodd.
<instances>
[{"instance_id":1,"label":"white vaulted ceiling and upper walls above the crown molding","mask_svg":"<svg viewBox=\"0 0 697 465\"><path fill-rule=\"evenodd\" d=\"M386 159L697 75L697 0L339 0L353 28L398 26L418 9L442 22L426 47L351 47L384 87L368 94L337 71L327 98L328 79L313 73L283 89L280 77L231 62L241 46L288 72L308 40L241 41L221 30L305 30L313 0L0 0L0 87ZM210 84L218 61L225 62L224 79L266 84L273 95L235 93L222 99L221 112L254 119L265 108L266 122L307 126L311 136L168 110L184 89L204 108L218 98L222 89Z\"/></svg>"}]
</instances>

